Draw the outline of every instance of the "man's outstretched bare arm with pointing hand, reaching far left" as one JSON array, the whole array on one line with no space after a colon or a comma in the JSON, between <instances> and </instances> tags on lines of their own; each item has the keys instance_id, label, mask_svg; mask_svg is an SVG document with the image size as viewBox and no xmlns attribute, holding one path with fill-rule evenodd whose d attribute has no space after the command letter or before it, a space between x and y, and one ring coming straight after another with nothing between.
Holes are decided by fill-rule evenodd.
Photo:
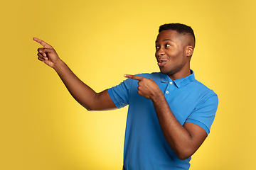
<instances>
[{"instance_id":1,"label":"man's outstretched bare arm with pointing hand, reaching far left","mask_svg":"<svg viewBox=\"0 0 256 170\"><path fill-rule=\"evenodd\" d=\"M58 57L57 52L51 45L38 38L33 38L33 40L43 46L38 48L38 60L45 62L49 67L55 69L55 72L57 72L70 94L78 103L88 111L102 111L116 108L107 90L100 93L93 91L75 76L65 62L60 60L60 57Z\"/></svg>"}]
</instances>

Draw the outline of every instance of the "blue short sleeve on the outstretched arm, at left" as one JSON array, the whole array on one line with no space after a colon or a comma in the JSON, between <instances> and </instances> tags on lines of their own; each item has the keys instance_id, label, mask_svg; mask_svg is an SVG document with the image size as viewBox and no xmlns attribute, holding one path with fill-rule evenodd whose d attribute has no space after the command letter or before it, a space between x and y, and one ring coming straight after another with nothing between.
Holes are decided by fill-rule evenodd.
<instances>
[{"instance_id":1,"label":"blue short sleeve on the outstretched arm, at left","mask_svg":"<svg viewBox=\"0 0 256 170\"><path fill-rule=\"evenodd\" d=\"M108 89L110 98L117 108L123 108L129 104L129 91L132 87L132 79L126 79L121 84Z\"/></svg>"}]
</instances>

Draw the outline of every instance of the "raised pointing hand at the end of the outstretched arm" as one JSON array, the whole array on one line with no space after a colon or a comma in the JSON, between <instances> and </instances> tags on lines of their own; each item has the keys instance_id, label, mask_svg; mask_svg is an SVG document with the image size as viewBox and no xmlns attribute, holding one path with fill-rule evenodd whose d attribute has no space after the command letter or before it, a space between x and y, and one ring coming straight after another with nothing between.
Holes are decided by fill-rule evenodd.
<instances>
[{"instance_id":1,"label":"raised pointing hand at the end of the outstretched arm","mask_svg":"<svg viewBox=\"0 0 256 170\"><path fill-rule=\"evenodd\" d=\"M60 60L57 52L55 52L51 45L48 45L48 43L44 42L43 40L40 40L38 38L33 38L33 40L43 46L41 48L38 48L38 60L40 60L41 62L45 62L48 66L53 68L55 66L55 63Z\"/></svg>"}]
</instances>

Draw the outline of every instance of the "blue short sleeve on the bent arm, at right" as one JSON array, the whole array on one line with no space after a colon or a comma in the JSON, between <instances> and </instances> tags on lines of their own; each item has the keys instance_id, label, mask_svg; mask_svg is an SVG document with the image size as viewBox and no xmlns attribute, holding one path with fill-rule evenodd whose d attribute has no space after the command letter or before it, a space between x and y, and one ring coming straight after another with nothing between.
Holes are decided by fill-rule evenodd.
<instances>
[{"instance_id":1,"label":"blue short sleeve on the bent arm, at right","mask_svg":"<svg viewBox=\"0 0 256 170\"><path fill-rule=\"evenodd\" d=\"M206 130L207 134L209 134L217 108L218 96L210 90L203 96L201 103L196 106L193 113L188 116L186 123L194 123Z\"/></svg>"}]
</instances>

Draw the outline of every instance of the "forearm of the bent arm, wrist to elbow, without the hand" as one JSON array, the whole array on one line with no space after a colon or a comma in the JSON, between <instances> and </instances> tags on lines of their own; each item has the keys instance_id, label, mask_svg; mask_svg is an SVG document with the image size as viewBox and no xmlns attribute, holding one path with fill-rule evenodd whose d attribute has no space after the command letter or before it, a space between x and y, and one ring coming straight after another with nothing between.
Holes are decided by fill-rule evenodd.
<instances>
[{"instance_id":1,"label":"forearm of the bent arm, wrist to elbow, without the hand","mask_svg":"<svg viewBox=\"0 0 256 170\"><path fill-rule=\"evenodd\" d=\"M179 159L191 157L198 147L193 143L193 137L188 130L176 120L164 98L164 94L151 98L151 101L154 104L161 130L171 149Z\"/></svg>"}]
</instances>

